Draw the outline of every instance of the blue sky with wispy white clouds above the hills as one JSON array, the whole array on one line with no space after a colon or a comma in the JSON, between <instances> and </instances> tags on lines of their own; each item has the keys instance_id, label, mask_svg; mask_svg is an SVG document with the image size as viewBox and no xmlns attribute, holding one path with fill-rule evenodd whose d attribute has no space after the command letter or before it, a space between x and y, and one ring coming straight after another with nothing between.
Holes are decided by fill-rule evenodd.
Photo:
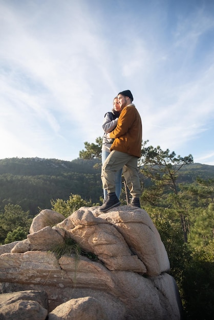
<instances>
[{"instance_id":1,"label":"blue sky with wispy white clouds above the hills","mask_svg":"<svg viewBox=\"0 0 214 320\"><path fill-rule=\"evenodd\" d=\"M130 89L149 145L214 165L214 2L0 0L0 158L72 161Z\"/></svg>"}]
</instances>

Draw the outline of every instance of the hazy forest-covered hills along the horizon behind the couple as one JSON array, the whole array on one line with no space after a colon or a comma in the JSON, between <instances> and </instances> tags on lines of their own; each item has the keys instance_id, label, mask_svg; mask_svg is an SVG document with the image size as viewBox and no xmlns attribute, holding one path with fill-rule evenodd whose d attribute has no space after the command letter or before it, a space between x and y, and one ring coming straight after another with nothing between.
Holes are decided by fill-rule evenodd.
<instances>
[{"instance_id":1,"label":"hazy forest-covered hills along the horizon behind the couple","mask_svg":"<svg viewBox=\"0 0 214 320\"><path fill-rule=\"evenodd\" d=\"M39 209L51 209L51 199L66 200L71 193L97 203L102 198L100 173L101 160L94 158L73 161L38 157L0 159L0 211L5 204L19 204L34 216ZM197 177L214 178L214 166L183 166L178 182L191 183Z\"/></svg>"}]
</instances>

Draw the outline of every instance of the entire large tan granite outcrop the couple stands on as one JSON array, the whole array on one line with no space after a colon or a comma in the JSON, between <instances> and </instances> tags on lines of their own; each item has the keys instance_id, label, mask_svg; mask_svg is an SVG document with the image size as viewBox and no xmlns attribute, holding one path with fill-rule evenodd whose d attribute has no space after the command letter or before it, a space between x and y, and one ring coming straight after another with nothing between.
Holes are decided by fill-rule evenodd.
<instances>
[{"instance_id":1,"label":"entire large tan granite outcrop the couple stands on","mask_svg":"<svg viewBox=\"0 0 214 320\"><path fill-rule=\"evenodd\" d=\"M57 254L67 239L88 257ZM34 300L30 308L37 307L41 319L45 309L51 320L178 320L180 298L169 268L160 235L143 209L124 205L100 214L97 207L82 207L68 218L43 210L27 239L0 246L0 315L9 306L5 294L45 291L48 306ZM29 301L20 298L20 308Z\"/></svg>"}]
</instances>

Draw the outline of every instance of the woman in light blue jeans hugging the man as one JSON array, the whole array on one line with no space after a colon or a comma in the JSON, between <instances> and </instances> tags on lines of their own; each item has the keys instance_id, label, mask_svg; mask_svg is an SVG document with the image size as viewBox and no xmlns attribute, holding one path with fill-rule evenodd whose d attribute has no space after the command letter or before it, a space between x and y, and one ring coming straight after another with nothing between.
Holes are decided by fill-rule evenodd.
<instances>
[{"instance_id":1,"label":"woman in light blue jeans hugging the man","mask_svg":"<svg viewBox=\"0 0 214 320\"><path fill-rule=\"evenodd\" d=\"M114 139L107 138L106 133L109 133L116 128L117 120L120 115L120 112L121 112L121 108L118 104L117 97L115 97L113 101L113 109L112 111L105 113L104 121L102 125L102 129L105 132L102 138L102 164L110 154L111 152L110 149L114 141ZM120 198L120 192L121 192L121 175L122 175L122 169L117 171L115 176L115 193L118 199ZM104 199L106 195L107 195L107 190L103 189Z\"/></svg>"}]
</instances>

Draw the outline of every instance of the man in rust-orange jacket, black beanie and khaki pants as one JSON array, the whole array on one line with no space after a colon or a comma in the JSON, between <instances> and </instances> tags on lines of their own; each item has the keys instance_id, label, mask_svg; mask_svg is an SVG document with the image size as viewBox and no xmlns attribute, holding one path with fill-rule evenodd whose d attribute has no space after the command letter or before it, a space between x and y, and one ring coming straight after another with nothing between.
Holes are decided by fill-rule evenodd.
<instances>
[{"instance_id":1,"label":"man in rust-orange jacket, black beanie and khaki pants","mask_svg":"<svg viewBox=\"0 0 214 320\"><path fill-rule=\"evenodd\" d=\"M123 168L123 175L132 195L130 204L140 208L141 188L137 162L141 156L142 123L139 112L132 101L133 95L130 90L124 90L118 94L118 102L122 111L116 128L108 133L109 138L115 140L111 153L102 166L102 185L108 194L104 203L99 207L100 212L106 212L120 205L115 194L115 173L121 168Z\"/></svg>"}]
</instances>

